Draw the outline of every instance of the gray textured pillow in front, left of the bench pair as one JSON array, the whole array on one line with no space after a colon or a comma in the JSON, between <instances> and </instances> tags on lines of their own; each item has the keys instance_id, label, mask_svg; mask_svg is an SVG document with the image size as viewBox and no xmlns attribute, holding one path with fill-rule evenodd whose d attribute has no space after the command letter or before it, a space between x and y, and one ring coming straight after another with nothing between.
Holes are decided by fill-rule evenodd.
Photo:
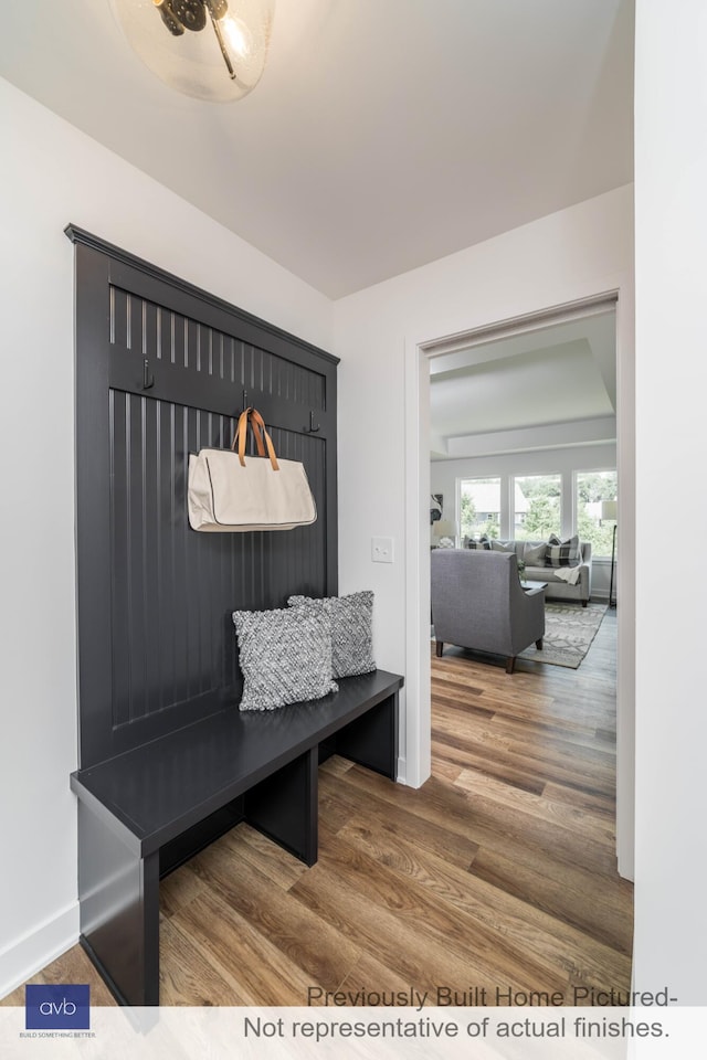
<instances>
[{"instance_id":1,"label":"gray textured pillow in front, left of the bench pair","mask_svg":"<svg viewBox=\"0 0 707 1060\"><path fill-rule=\"evenodd\" d=\"M326 615L234 611L233 624L243 674L241 710L274 710L338 691Z\"/></svg>"}]
</instances>

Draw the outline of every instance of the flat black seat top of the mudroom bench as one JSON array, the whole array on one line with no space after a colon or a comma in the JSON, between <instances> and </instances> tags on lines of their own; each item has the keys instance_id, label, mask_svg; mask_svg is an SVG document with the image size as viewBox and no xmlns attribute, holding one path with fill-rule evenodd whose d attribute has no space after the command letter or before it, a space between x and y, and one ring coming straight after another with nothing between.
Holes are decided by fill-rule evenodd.
<instances>
[{"instance_id":1,"label":"flat black seat top of the mudroom bench","mask_svg":"<svg viewBox=\"0 0 707 1060\"><path fill-rule=\"evenodd\" d=\"M338 685L338 692L312 702L219 711L72 773L72 789L108 810L126 838L150 852L397 692L403 678L373 670Z\"/></svg>"}]
</instances>

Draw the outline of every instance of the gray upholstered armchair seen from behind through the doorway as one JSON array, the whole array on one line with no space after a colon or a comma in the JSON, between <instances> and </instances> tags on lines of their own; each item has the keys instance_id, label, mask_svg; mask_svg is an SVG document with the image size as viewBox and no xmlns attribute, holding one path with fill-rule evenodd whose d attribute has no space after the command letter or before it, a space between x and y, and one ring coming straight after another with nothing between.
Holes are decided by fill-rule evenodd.
<instances>
[{"instance_id":1,"label":"gray upholstered armchair seen from behind through the doorway","mask_svg":"<svg viewBox=\"0 0 707 1060\"><path fill-rule=\"evenodd\" d=\"M545 590L525 592L513 552L435 549L431 553L432 622L437 656L445 644L516 656L545 636Z\"/></svg>"}]
</instances>

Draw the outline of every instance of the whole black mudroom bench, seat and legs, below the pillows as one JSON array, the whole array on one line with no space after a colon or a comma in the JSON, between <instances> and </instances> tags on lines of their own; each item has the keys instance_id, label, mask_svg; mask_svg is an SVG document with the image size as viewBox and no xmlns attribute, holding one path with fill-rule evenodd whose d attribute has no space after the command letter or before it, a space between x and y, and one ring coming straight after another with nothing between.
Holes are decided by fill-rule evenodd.
<instances>
[{"instance_id":1,"label":"whole black mudroom bench, seat and legs, below the pillows","mask_svg":"<svg viewBox=\"0 0 707 1060\"><path fill-rule=\"evenodd\" d=\"M395 778L402 677L374 670L266 712L222 710L71 776L81 941L116 998L159 1004L159 880L239 822L317 860L317 767Z\"/></svg>"}]
</instances>

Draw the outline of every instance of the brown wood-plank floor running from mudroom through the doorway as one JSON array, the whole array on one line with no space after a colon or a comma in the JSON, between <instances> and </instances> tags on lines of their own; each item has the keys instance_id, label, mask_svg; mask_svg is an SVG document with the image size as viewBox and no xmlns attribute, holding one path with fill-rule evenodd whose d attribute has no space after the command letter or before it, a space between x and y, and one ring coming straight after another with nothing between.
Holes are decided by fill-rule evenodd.
<instances>
[{"instance_id":1,"label":"brown wood-plank floor running from mudroom through the doorway","mask_svg":"<svg viewBox=\"0 0 707 1060\"><path fill-rule=\"evenodd\" d=\"M584 990L629 988L615 612L579 670L521 660L508 676L500 660L445 649L432 671L433 775L422 788L331 759L316 866L239 826L163 881L162 1004L306 1005L327 990L411 988L428 1005L505 1004L508 990L583 1004ZM33 979L57 981L91 982L94 1004L110 1003L78 947ZM22 1005L23 990L3 1004Z\"/></svg>"}]
</instances>

